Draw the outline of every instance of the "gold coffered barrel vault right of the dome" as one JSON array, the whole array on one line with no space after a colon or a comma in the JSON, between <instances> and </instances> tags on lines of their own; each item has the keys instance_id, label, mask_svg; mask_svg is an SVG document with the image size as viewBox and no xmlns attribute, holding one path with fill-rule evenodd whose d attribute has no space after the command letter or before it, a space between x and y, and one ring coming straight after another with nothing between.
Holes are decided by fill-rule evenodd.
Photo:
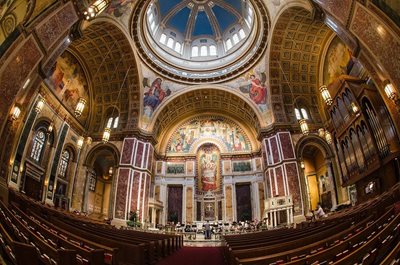
<instances>
[{"instance_id":1,"label":"gold coffered barrel vault right of the dome","mask_svg":"<svg viewBox=\"0 0 400 265\"><path fill-rule=\"evenodd\" d=\"M278 19L270 56L270 85L277 122L294 122L293 100L307 101L313 122L318 114L320 56L331 31L303 8L290 8Z\"/></svg>"}]
</instances>

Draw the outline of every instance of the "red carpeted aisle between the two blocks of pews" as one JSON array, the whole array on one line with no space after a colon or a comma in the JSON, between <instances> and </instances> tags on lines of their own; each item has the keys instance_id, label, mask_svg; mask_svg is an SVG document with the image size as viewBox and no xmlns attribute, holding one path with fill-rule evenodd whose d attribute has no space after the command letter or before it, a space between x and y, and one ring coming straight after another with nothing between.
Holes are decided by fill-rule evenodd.
<instances>
[{"instance_id":1,"label":"red carpeted aisle between the two blocks of pews","mask_svg":"<svg viewBox=\"0 0 400 265\"><path fill-rule=\"evenodd\" d=\"M221 247L183 247L157 265L225 265Z\"/></svg>"}]
</instances>

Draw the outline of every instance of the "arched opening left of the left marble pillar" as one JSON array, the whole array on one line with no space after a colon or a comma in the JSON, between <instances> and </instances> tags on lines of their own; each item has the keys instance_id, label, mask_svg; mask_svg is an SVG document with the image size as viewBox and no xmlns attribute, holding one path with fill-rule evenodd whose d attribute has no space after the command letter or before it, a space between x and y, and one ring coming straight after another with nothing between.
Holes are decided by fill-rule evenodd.
<instances>
[{"instance_id":1,"label":"arched opening left of the left marble pillar","mask_svg":"<svg viewBox=\"0 0 400 265\"><path fill-rule=\"evenodd\" d=\"M99 145L88 154L83 211L93 218L112 216L118 161L118 150L109 144Z\"/></svg>"}]
</instances>

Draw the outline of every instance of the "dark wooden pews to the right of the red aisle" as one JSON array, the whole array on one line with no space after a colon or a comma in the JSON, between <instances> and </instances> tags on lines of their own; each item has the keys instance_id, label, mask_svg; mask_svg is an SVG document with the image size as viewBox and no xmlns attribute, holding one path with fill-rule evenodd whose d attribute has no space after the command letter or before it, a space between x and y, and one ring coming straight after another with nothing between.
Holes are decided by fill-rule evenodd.
<instances>
[{"instance_id":1,"label":"dark wooden pews to the right of the red aisle","mask_svg":"<svg viewBox=\"0 0 400 265\"><path fill-rule=\"evenodd\" d=\"M231 265L399 264L400 185L317 222L224 236Z\"/></svg>"}]
</instances>

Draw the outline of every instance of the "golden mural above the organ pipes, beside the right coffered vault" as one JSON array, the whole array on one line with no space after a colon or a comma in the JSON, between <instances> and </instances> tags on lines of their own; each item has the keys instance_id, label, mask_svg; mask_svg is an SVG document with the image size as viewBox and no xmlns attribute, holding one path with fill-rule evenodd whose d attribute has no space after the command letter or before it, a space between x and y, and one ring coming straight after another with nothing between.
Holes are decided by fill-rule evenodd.
<instances>
[{"instance_id":1,"label":"golden mural above the organ pipes, beside the right coffered vault","mask_svg":"<svg viewBox=\"0 0 400 265\"><path fill-rule=\"evenodd\" d=\"M352 52L335 37L328 47L324 62L324 84L329 85L341 75L347 75L354 64Z\"/></svg>"}]
</instances>

